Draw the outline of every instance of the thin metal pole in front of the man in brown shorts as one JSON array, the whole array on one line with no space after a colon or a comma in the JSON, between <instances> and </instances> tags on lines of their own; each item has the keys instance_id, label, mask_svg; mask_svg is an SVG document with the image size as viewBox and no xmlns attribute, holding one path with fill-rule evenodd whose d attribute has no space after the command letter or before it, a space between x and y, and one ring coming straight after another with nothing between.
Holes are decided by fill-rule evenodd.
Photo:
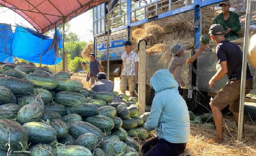
<instances>
[{"instance_id":1,"label":"thin metal pole in front of the man in brown shorts","mask_svg":"<svg viewBox=\"0 0 256 156\"><path fill-rule=\"evenodd\" d=\"M247 1L245 34L244 34L244 52L243 52L243 68L241 79L241 92L240 92L240 109L238 121L238 141L243 141L243 123L244 123L244 101L245 101L245 84L246 84L246 69L247 69L247 53L249 49L249 29L250 29L250 7L251 0Z\"/></svg>"}]
</instances>

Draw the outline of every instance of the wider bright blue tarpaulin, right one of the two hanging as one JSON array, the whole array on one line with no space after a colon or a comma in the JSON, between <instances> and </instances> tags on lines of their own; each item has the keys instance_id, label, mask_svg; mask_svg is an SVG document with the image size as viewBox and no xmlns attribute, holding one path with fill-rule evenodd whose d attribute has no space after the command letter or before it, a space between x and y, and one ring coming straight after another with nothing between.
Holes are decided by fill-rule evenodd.
<instances>
[{"instance_id":1,"label":"wider bright blue tarpaulin, right one of the two hanging","mask_svg":"<svg viewBox=\"0 0 256 156\"><path fill-rule=\"evenodd\" d=\"M9 29L9 32L12 31ZM57 64L62 60L59 57L59 49L62 49L62 36L58 30L55 31L54 38L51 38L45 35L41 36L29 28L18 26L15 29L10 44L9 56L22 58L33 63L40 63L40 55L42 53L41 63L48 65ZM2 49L0 50L2 51ZM0 58L4 57L2 53L6 54L6 51L0 52Z\"/></svg>"}]
</instances>

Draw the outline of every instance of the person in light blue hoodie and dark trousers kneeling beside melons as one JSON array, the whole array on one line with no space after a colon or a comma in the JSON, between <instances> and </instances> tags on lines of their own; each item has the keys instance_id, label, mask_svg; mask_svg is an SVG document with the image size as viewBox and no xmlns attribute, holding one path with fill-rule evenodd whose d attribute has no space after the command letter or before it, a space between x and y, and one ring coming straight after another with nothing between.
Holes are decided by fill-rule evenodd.
<instances>
[{"instance_id":1,"label":"person in light blue hoodie and dark trousers kneeling beside melons","mask_svg":"<svg viewBox=\"0 0 256 156\"><path fill-rule=\"evenodd\" d=\"M158 70L150 79L156 94L145 129L157 129L157 137L145 143L144 156L178 156L186 148L190 134L189 111L179 96L178 83L167 69Z\"/></svg>"}]
</instances>

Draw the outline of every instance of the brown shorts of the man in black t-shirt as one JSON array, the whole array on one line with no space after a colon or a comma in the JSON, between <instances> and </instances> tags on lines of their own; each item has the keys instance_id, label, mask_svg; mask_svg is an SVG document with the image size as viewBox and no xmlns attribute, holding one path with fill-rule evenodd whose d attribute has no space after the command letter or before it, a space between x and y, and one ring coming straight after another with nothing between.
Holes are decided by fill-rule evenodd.
<instances>
[{"instance_id":1,"label":"brown shorts of the man in black t-shirt","mask_svg":"<svg viewBox=\"0 0 256 156\"><path fill-rule=\"evenodd\" d=\"M246 80L245 95L248 94L252 89L252 84L252 80ZM210 102L210 105L213 105L222 110L228 104L230 104L229 110L239 113L240 89L241 80L233 80L229 84L227 83L213 98L213 100Z\"/></svg>"}]
</instances>

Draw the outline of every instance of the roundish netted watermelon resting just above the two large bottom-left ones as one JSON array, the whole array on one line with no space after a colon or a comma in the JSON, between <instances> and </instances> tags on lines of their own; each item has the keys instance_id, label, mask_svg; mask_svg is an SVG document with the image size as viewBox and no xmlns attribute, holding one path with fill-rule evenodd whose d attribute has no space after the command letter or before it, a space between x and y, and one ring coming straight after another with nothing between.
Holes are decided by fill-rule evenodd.
<instances>
[{"instance_id":1,"label":"roundish netted watermelon resting just above the two large bottom-left ones","mask_svg":"<svg viewBox=\"0 0 256 156\"><path fill-rule=\"evenodd\" d=\"M20 124L39 121L44 113L43 107L38 103L31 103L23 106L17 115L17 121Z\"/></svg>"}]
</instances>

